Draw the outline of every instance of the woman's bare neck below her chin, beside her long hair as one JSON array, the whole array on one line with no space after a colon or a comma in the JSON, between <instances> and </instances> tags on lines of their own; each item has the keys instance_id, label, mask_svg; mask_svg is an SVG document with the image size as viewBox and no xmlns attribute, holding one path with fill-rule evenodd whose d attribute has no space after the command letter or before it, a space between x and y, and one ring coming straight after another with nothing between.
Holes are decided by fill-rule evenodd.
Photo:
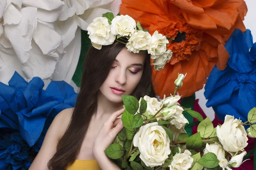
<instances>
[{"instance_id":1,"label":"woman's bare neck below her chin, beside her long hair","mask_svg":"<svg viewBox=\"0 0 256 170\"><path fill-rule=\"evenodd\" d=\"M95 111L96 117L102 117L103 114L112 114L123 107L123 102L114 103L108 100L102 93L99 92L97 98L97 108Z\"/></svg>"}]
</instances>

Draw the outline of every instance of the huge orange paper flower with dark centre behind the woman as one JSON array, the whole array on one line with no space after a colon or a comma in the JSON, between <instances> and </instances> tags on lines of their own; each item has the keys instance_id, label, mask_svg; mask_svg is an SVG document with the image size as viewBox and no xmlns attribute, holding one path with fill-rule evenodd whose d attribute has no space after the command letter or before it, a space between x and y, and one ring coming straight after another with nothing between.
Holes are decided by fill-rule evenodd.
<instances>
[{"instance_id":1,"label":"huge orange paper flower with dark centre behind the woman","mask_svg":"<svg viewBox=\"0 0 256 170\"><path fill-rule=\"evenodd\" d=\"M190 96L203 88L217 63L224 69L229 57L224 43L235 28L245 31L247 6L243 0L122 0L121 14L139 20L171 40L169 64L154 71L154 88L160 98L174 93L178 73L187 73L179 94Z\"/></svg>"}]
</instances>

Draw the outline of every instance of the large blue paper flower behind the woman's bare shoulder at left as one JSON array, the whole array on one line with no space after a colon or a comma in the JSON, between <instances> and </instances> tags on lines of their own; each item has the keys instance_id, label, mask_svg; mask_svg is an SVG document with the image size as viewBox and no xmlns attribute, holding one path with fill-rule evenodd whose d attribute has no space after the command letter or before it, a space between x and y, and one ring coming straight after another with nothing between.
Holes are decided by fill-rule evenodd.
<instances>
[{"instance_id":1,"label":"large blue paper flower behind the woman's bare shoulder at left","mask_svg":"<svg viewBox=\"0 0 256 170\"><path fill-rule=\"evenodd\" d=\"M0 82L0 169L27 169L41 148L54 117L74 107L77 94L64 81L26 82L17 72L9 85Z\"/></svg>"}]
</instances>

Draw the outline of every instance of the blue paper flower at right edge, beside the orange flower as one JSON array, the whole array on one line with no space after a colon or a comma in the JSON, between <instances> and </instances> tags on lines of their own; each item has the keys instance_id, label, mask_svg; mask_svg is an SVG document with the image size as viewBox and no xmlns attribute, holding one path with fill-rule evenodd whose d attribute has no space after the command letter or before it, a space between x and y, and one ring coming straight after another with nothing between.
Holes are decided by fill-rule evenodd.
<instances>
[{"instance_id":1,"label":"blue paper flower at right edge, beside the orange flower","mask_svg":"<svg viewBox=\"0 0 256 170\"><path fill-rule=\"evenodd\" d=\"M247 121L247 114L256 106L256 43L250 30L235 30L225 48L230 54L224 71L212 69L204 96L207 107L214 109L218 118L227 114Z\"/></svg>"}]
</instances>

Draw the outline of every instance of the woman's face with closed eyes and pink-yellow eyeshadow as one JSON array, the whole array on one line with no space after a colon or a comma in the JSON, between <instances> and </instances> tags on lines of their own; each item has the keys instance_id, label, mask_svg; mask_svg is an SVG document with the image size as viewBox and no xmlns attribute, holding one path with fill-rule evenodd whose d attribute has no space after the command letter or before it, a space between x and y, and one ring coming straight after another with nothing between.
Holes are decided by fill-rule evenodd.
<instances>
[{"instance_id":1,"label":"woman's face with closed eyes and pink-yellow eyeshadow","mask_svg":"<svg viewBox=\"0 0 256 170\"><path fill-rule=\"evenodd\" d=\"M122 95L131 95L140 82L144 63L144 53L135 54L127 48L122 49L99 90L111 102L122 102Z\"/></svg>"}]
</instances>

